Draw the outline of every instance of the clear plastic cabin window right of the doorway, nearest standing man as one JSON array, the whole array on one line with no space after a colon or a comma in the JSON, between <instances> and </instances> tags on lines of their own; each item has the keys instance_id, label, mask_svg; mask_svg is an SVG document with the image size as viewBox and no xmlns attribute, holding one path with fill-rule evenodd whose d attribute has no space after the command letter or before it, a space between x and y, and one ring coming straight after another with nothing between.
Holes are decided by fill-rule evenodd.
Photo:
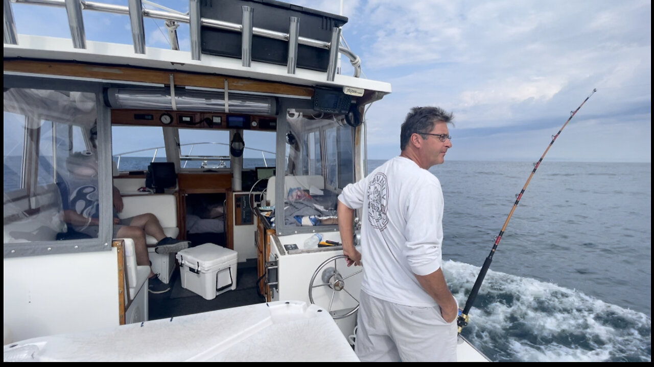
<instances>
[{"instance_id":1,"label":"clear plastic cabin window right of the doorway, nearest standing man","mask_svg":"<svg viewBox=\"0 0 654 367\"><path fill-rule=\"evenodd\" d=\"M284 200L275 212L284 219L275 219L277 231L337 231L337 197L354 177L354 129L341 115L294 110L286 130L283 197L275 198Z\"/></svg>"}]
</instances>

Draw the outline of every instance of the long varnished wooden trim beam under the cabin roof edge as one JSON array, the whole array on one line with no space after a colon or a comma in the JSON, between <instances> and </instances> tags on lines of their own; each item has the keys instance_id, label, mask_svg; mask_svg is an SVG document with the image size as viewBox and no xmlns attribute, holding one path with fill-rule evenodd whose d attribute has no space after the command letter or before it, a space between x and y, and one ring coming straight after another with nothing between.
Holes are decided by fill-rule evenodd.
<instances>
[{"instance_id":1,"label":"long varnished wooden trim beam under the cabin roof edge","mask_svg":"<svg viewBox=\"0 0 654 367\"><path fill-rule=\"evenodd\" d=\"M5 59L4 71L29 74L75 76L99 80L170 84L173 75L175 86L224 89L227 80L230 91L251 91L297 97L312 97L313 88L293 86L280 82L266 82L246 78L232 78L215 74L194 74L170 70L146 69L143 67L119 67L70 61L39 61L29 59Z\"/></svg>"}]
</instances>

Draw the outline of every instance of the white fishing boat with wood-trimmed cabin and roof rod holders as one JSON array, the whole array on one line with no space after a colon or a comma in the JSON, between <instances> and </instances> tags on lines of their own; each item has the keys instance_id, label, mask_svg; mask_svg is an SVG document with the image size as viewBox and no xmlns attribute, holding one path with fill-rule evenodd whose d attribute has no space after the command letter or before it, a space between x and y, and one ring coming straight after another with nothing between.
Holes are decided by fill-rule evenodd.
<instances>
[{"instance_id":1,"label":"white fishing boat with wood-trimmed cabin and roof rod holders","mask_svg":"<svg viewBox=\"0 0 654 367\"><path fill-rule=\"evenodd\" d=\"M5 361L358 360L362 270L345 266L336 202L366 175L365 112L391 86L360 77L344 16L188 5L4 0ZM65 9L71 37L17 33L19 6ZM86 39L89 11L129 17L131 44ZM148 18L165 22L170 49L146 47ZM62 214L73 163L97 188L91 238ZM148 236L150 267L137 265L133 240L112 238L112 187L120 217L152 213L192 246L161 254ZM150 268L190 296L149 293ZM488 360L458 346L460 361Z\"/></svg>"}]
</instances>

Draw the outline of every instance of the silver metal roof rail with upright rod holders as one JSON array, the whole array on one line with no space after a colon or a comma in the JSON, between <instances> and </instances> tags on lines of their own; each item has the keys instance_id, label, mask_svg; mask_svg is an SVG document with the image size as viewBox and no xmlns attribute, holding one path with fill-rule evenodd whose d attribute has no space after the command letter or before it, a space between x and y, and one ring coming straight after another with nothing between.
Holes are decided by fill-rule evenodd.
<instances>
[{"instance_id":1,"label":"silver metal roof rail with upright rod holders","mask_svg":"<svg viewBox=\"0 0 654 367\"><path fill-rule=\"evenodd\" d=\"M303 44L330 51L329 63L326 70L326 78L329 82L333 82L334 77L336 76L339 52L350 59L350 62L354 67L354 77L358 78L360 76L361 61L359 57L349 50L349 48L340 46L340 27L332 27L332 37L330 42L324 42L322 40L299 37L299 18L294 16L290 17L288 33L254 27L252 25L252 7L245 5L242 7L243 24L235 24L220 20L201 18L200 0L189 0L190 11L188 12L188 15L180 12L143 8L142 0L128 1L128 6L125 7L122 5L105 4L85 0L3 0L4 43L14 45L18 44L18 35L16 33L16 24L14 22L11 3L25 3L65 8L71 29L71 39L73 40L73 46L75 48L86 49L86 35L84 33L82 10L94 10L129 15L135 54L145 54L145 28L143 25L143 18L146 17L165 20L165 25L168 29L173 50L179 50L179 45L177 43L177 27L179 26L179 23L188 24L190 26L189 38L191 44L191 57L194 60L199 61L201 59L200 29L201 26L206 26L242 33L241 63L243 67L250 67L252 61L252 35L257 35L269 39L288 41L288 60L286 62L286 72L288 74L296 73L298 44ZM150 1L146 1L146 3L150 3ZM151 4L156 5L153 3Z\"/></svg>"}]
</instances>

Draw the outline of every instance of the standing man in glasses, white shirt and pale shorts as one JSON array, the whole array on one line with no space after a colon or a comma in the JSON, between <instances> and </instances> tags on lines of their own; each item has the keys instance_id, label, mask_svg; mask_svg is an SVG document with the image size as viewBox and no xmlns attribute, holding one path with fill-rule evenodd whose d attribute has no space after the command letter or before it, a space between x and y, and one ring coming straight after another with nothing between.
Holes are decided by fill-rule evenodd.
<instances>
[{"instance_id":1,"label":"standing man in glasses, white shirt and pale shorts","mask_svg":"<svg viewBox=\"0 0 654 367\"><path fill-rule=\"evenodd\" d=\"M356 355L362 361L456 361L458 305L441 268L443 191L428 169L452 148L452 114L414 107L402 123L399 157L339 195L348 266L364 264ZM354 210L362 208L361 253Z\"/></svg>"}]
</instances>

